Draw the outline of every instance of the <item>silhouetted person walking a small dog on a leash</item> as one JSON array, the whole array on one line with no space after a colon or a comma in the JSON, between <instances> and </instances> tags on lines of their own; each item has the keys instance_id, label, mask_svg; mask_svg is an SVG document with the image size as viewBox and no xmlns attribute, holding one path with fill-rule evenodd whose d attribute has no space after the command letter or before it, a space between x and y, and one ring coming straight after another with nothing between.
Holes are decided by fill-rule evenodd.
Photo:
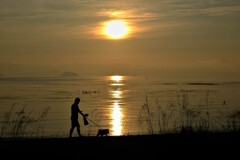
<instances>
[{"instance_id":1,"label":"silhouetted person walking a small dog on a leash","mask_svg":"<svg viewBox=\"0 0 240 160\"><path fill-rule=\"evenodd\" d=\"M88 116L88 114L83 114L83 112L79 109L79 106L78 106L79 103L80 103L80 98L77 97L75 98L74 103L71 106L71 129L70 129L69 137L72 137L73 130L75 127L77 128L78 136L81 137L80 124L78 122L78 113L82 115L84 121L87 121L86 117Z\"/></svg>"}]
</instances>

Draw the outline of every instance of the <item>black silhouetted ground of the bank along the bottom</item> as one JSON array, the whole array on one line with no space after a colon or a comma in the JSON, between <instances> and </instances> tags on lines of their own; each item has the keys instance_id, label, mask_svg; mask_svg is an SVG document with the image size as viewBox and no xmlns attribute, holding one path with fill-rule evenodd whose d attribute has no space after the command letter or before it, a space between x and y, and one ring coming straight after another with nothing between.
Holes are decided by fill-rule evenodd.
<instances>
[{"instance_id":1,"label":"black silhouetted ground of the bank along the bottom","mask_svg":"<svg viewBox=\"0 0 240 160\"><path fill-rule=\"evenodd\" d=\"M1 139L2 156L17 158L185 159L239 157L240 133ZM129 157L130 156L130 157ZM206 157L207 156L207 157Z\"/></svg>"}]
</instances>

